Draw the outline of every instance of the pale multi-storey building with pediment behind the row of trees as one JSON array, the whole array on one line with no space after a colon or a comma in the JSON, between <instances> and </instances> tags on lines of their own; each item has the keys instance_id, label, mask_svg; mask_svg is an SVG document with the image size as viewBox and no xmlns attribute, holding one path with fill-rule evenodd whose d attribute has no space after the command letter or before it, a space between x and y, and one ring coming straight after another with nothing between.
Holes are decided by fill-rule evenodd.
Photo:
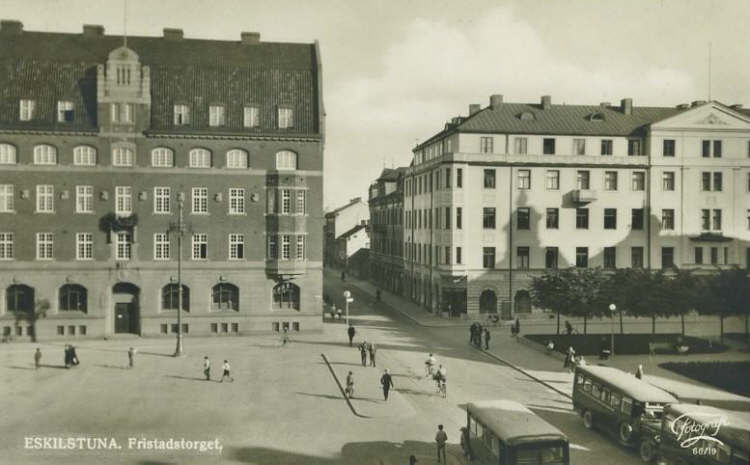
<instances>
[{"instance_id":1,"label":"pale multi-storey building with pediment behind the row of trees","mask_svg":"<svg viewBox=\"0 0 750 465\"><path fill-rule=\"evenodd\" d=\"M433 311L530 312L549 268L745 267L750 112L493 95L414 149L405 192L408 292Z\"/></svg>"}]
</instances>

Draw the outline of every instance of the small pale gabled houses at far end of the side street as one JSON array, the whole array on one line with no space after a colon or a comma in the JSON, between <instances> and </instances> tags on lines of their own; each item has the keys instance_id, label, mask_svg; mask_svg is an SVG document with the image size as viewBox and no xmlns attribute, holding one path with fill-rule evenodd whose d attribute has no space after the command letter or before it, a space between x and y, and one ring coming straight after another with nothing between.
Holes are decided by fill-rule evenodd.
<instances>
[{"instance_id":1,"label":"small pale gabled houses at far end of the side street","mask_svg":"<svg viewBox=\"0 0 750 465\"><path fill-rule=\"evenodd\" d=\"M325 265L344 270L349 257L360 248L369 248L367 225L370 213L361 197L325 214L323 245Z\"/></svg>"}]
</instances>

